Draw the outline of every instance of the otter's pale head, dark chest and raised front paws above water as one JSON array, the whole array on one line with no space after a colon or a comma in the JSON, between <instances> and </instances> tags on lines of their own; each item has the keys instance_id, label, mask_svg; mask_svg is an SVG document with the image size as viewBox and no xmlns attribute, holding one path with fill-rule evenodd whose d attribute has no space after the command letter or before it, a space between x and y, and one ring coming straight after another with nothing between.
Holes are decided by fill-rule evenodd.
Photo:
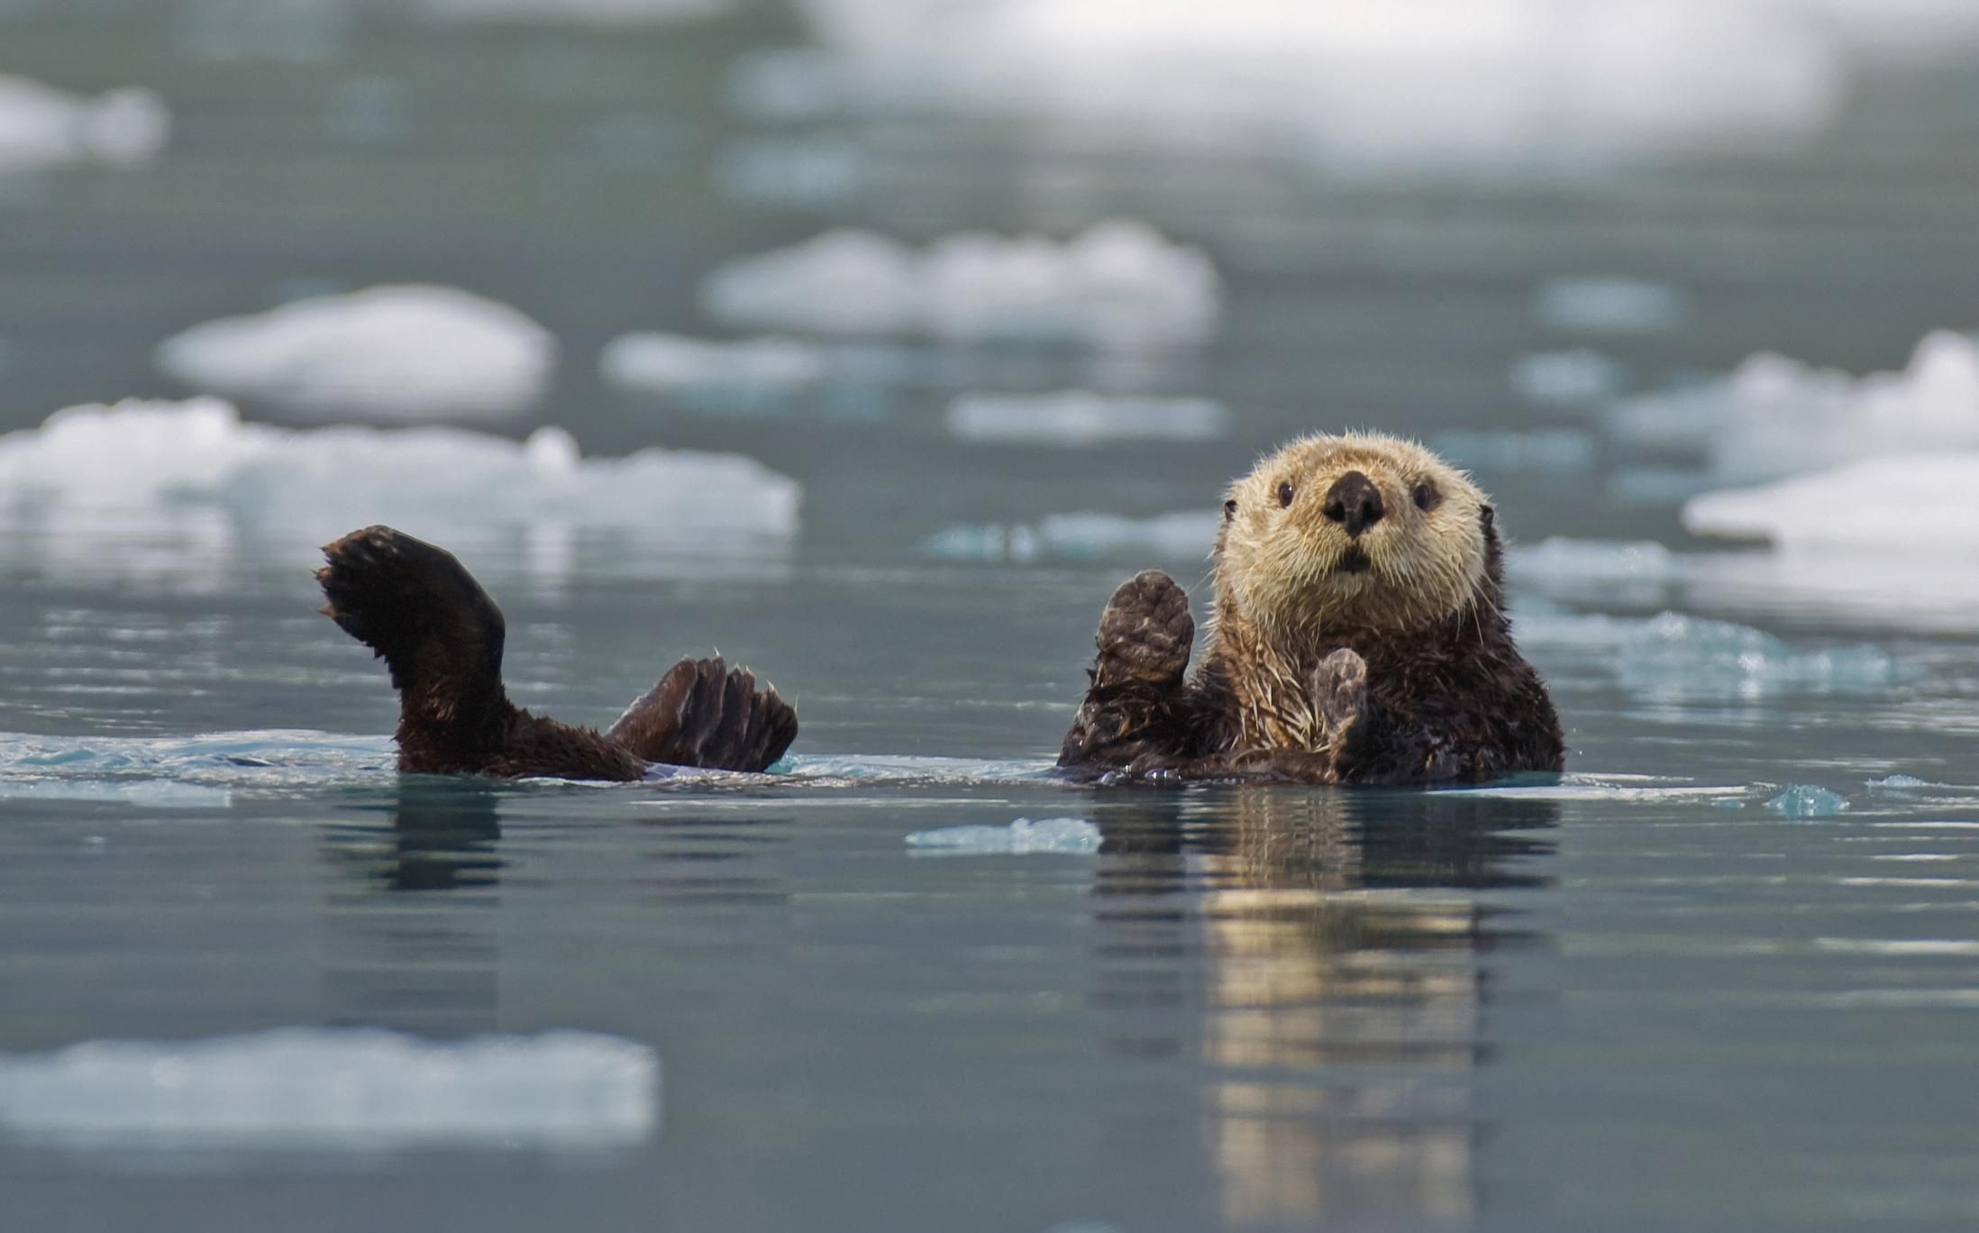
<instances>
[{"instance_id":1,"label":"otter's pale head, dark chest and raised front paws above water","mask_svg":"<svg viewBox=\"0 0 1979 1233\"><path fill-rule=\"evenodd\" d=\"M1421 445L1292 441L1231 485L1215 612L1160 572L1114 592L1059 766L1312 784L1490 780L1565 762L1512 643L1492 507Z\"/></svg>"}]
</instances>

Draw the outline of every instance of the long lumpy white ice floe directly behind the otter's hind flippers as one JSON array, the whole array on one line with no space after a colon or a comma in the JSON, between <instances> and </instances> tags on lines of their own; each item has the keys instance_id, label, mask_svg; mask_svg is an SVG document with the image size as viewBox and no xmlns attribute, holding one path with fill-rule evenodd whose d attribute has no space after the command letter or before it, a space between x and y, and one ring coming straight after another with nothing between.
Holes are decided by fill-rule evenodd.
<instances>
[{"instance_id":1,"label":"long lumpy white ice floe directly behind the otter's hind flippers","mask_svg":"<svg viewBox=\"0 0 1979 1233\"><path fill-rule=\"evenodd\" d=\"M243 534L329 540L366 522L441 538L517 526L641 542L788 536L800 487L730 453L578 457L560 427L509 441L457 427L289 429L218 398L55 412L0 437L0 522L87 532L224 513Z\"/></svg>"}]
</instances>

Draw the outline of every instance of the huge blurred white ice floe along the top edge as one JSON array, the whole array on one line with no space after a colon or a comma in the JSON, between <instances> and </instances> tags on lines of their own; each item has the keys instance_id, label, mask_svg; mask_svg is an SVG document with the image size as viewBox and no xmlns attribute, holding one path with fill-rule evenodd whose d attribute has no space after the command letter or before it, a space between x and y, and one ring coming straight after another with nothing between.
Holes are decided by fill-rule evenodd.
<instances>
[{"instance_id":1,"label":"huge blurred white ice floe along the top edge","mask_svg":"<svg viewBox=\"0 0 1979 1233\"><path fill-rule=\"evenodd\" d=\"M1833 0L805 0L865 107L1112 123L1140 141L1271 141L1336 170L1581 170L1779 146L1854 67ZM1860 26L1888 22L1866 16ZM1910 10L1914 24L1969 22ZM1935 18L1935 20L1933 20ZM811 87L817 93L819 87ZM786 91L790 93L790 91Z\"/></svg>"}]
</instances>

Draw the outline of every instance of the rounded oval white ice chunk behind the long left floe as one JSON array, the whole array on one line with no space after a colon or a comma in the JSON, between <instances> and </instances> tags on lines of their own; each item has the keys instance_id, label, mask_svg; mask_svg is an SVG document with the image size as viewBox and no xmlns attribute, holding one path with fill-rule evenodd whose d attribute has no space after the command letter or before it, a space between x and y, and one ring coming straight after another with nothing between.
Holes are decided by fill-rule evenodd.
<instances>
[{"instance_id":1,"label":"rounded oval white ice chunk behind the long left floe","mask_svg":"<svg viewBox=\"0 0 1979 1233\"><path fill-rule=\"evenodd\" d=\"M540 398L556 338L455 287L388 285L196 325L156 364L297 420L501 422Z\"/></svg>"}]
</instances>

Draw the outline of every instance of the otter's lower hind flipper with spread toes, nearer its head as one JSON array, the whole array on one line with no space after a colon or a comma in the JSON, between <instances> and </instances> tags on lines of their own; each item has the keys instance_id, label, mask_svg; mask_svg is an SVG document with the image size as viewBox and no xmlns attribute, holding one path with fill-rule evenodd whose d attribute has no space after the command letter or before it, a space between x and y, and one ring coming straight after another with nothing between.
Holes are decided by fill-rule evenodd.
<instances>
[{"instance_id":1,"label":"otter's lower hind flipper with spread toes, nearer its head","mask_svg":"<svg viewBox=\"0 0 1979 1233\"><path fill-rule=\"evenodd\" d=\"M796 738L792 705L720 659L681 659L606 730L647 762L716 770L768 770Z\"/></svg>"}]
</instances>

